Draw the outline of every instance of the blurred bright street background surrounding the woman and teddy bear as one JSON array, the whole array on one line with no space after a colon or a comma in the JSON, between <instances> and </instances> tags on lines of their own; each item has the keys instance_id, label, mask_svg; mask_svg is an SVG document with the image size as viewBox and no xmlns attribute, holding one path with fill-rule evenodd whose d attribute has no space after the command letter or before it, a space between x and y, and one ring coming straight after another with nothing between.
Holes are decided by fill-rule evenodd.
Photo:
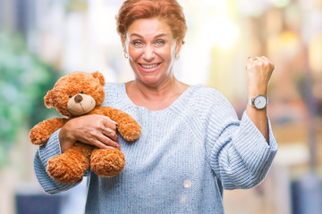
<instances>
[{"instance_id":1,"label":"blurred bright street background surrounding the woman and teddy bear","mask_svg":"<svg viewBox=\"0 0 322 214\"><path fill-rule=\"evenodd\" d=\"M246 107L249 56L275 62L268 114L279 144L267 179L225 191L228 214L322 213L322 0L179 0L188 24L177 78ZM48 196L29 131L59 116L43 97L72 71L133 76L115 29L122 0L0 0L0 213L82 213L86 185ZM32 210L35 209L38 210Z\"/></svg>"}]
</instances>

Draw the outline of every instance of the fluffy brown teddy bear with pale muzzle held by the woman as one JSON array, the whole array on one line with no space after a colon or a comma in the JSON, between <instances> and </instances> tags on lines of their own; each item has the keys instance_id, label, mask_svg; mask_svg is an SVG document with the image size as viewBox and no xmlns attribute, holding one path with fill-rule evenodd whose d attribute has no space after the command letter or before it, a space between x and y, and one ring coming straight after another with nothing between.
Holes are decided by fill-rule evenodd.
<instances>
[{"instance_id":1,"label":"fluffy brown teddy bear with pale muzzle held by the woman","mask_svg":"<svg viewBox=\"0 0 322 214\"><path fill-rule=\"evenodd\" d=\"M106 115L117 123L117 132L126 141L140 137L141 128L129 114L112 107L101 106L105 100L105 78L100 72L72 72L59 78L44 97L47 108L54 107L62 118L46 119L30 130L32 144L46 144L49 137L66 122L88 114ZM51 158L47 172L55 180L70 184L79 181L90 169L101 177L114 177L125 166L120 147L99 149L93 145L76 142L72 148Z\"/></svg>"}]
</instances>

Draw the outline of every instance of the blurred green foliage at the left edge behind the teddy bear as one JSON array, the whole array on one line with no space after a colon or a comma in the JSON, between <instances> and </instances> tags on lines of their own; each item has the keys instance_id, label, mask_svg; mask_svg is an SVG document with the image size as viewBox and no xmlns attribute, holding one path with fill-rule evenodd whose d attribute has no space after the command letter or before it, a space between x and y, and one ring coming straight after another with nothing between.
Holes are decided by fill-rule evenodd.
<instances>
[{"instance_id":1,"label":"blurred green foliage at the left edge behind the teddy bear","mask_svg":"<svg viewBox=\"0 0 322 214\"><path fill-rule=\"evenodd\" d=\"M30 53L22 37L0 34L0 47L1 168L19 130L55 113L47 110L43 97L54 86L58 72Z\"/></svg>"}]
</instances>

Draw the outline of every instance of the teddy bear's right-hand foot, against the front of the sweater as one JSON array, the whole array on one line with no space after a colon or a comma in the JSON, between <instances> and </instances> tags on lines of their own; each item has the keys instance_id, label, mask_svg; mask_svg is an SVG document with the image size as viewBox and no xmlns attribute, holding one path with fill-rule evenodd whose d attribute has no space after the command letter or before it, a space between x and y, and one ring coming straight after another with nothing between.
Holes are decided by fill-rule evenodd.
<instances>
[{"instance_id":1,"label":"teddy bear's right-hand foot, against the front of the sweater","mask_svg":"<svg viewBox=\"0 0 322 214\"><path fill-rule=\"evenodd\" d=\"M118 149L97 149L90 158L90 169L101 177L114 177L122 172L124 166L124 154Z\"/></svg>"}]
</instances>

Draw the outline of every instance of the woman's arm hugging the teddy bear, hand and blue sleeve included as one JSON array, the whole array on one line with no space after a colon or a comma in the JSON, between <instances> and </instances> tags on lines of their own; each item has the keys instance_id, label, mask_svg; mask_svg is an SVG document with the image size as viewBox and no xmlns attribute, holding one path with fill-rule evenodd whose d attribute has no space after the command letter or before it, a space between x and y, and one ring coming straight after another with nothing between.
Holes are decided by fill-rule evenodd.
<instances>
[{"instance_id":1,"label":"woman's arm hugging the teddy bear, hand and blue sleeve included","mask_svg":"<svg viewBox=\"0 0 322 214\"><path fill-rule=\"evenodd\" d=\"M103 128L108 131L103 131ZM87 115L71 119L63 128L50 136L47 144L39 147L34 159L34 169L39 184L46 193L60 193L80 184L62 184L55 181L47 173L47 161L64 153L72 145L80 141L98 148L108 149L119 146L117 143L116 124L113 120L101 115Z\"/></svg>"}]
</instances>

